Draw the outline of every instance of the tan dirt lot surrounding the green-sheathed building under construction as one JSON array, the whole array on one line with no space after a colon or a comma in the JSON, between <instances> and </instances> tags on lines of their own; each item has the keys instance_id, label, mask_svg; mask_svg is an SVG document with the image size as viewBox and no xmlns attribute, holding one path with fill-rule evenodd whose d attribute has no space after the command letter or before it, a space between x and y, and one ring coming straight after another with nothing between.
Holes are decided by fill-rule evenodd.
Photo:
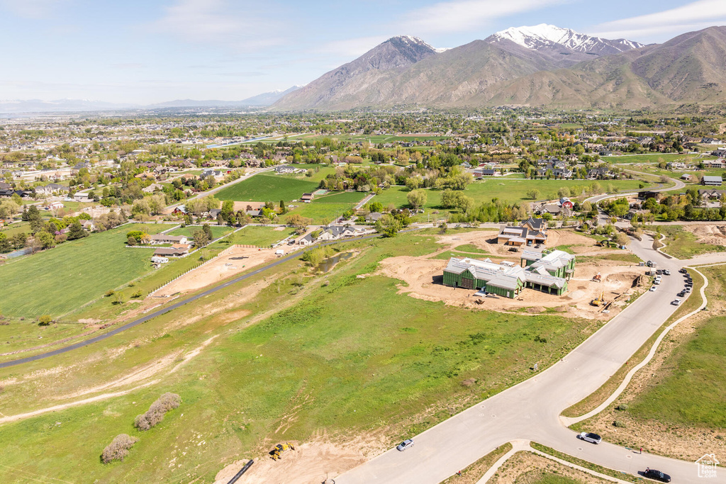
<instances>
[{"instance_id":1,"label":"tan dirt lot surrounding the green-sheathed building under construction","mask_svg":"<svg viewBox=\"0 0 726 484\"><path fill-rule=\"evenodd\" d=\"M444 301L449 305L468 308L489 309L494 311L526 311L528 313L542 313L547 308L555 308L562 313L571 313L572 316L588 319L610 319L625 305L628 295L634 290L634 279L645 272L644 268L631 263L620 261L600 260L597 263L576 263L575 274L570 279L569 290L563 296L549 295L534 290L524 290L516 299L508 298L475 298L473 290L462 288L454 289L441 283L441 275L447 261L432 259L432 256L446 253L454 247L473 244L486 253L495 255L495 262L502 260L519 263L521 253L510 253L502 245L487 242L494 235L489 231L473 231L464 234L441 236L438 242L444 245L442 250L423 257L401 256L388 258L380 263L380 273L401 279L407 285L401 284L399 293L408 294L413 298ZM607 250L593 245L592 239L574 234L571 231L550 231L550 240L553 245L570 245L577 255L597 256L608 253L623 253L622 250ZM472 258L486 258L487 255L471 254ZM492 256L489 256L492 257ZM592 276L600 273L603 282L592 282ZM605 292L605 300L615 300L610 307L610 313L602 313L602 308L590 305L590 301ZM617 298L617 299L616 299ZM476 300L484 300L481 305Z\"/></svg>"}]
</instances>

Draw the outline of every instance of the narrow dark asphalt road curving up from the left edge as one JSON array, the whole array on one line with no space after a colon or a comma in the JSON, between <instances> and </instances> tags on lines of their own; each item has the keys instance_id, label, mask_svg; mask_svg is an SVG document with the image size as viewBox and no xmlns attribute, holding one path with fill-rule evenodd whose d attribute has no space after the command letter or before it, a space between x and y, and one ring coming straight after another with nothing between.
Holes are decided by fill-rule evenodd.
<instances>
[{"instance_id":1,"label":"narrow dark asphalt road curving up from the left edge","mask_svg":"<svg viewBox=\"0 0 726 484\"><path fill-rule=\"evenodd\" d=\"M364 237L355 237L352 239L336 240L333 242L325 242L325 244L322 244L322 245L335 245L340 242L355 242L356 240L374 239L376 237L380 237L380 234L367 235ZM320 246L317 246L317 247L320 247ZM78 343L74 343L73 345L64 346L63 348L58 348L57 350L48 351L47 353L40 353L38 355L27 356L25 358L20 358L20 359L12 360L12 361L4 361L4 362L0 363L0 368L8 368L9 366L20 365L23 363L28 363L29 361L38 361L38 360L42 360L44 358L50 358L51 356L60 355L62 353L68 353L68 351L73 351L78 348L83 348L84 346L92 345L93 343L98 343L99 341L102 341L102 340L105 340L112 336L118 335L118 333L126 331L126 329L131 329L135 326L138 326L139 324L149 321L150 319L154 319L156 316L161 316L162 314L168 313L169 311L174 311L174 309L176 309L176 308L181 308L181 306L183 306L185 304L192 303L193 301L195 301L197 299L204 298L205 296L213 294L214 292L224 289L227 286L230 286L232 284L237 284L237 282L244 281L245 279L248 279L249 277L252 277L252 276L256 276L257 274L260 274L261 272L268 271L269 269L271 269L275 266L279 266L280 264L290 261L291 259L298 258L301 256L301 254L302 253L300 253L300 252L295 252L290 255L287 255L284 258L277 259L277 261L274 261L273 263L269 263L268 265L258 268L255 271L252 271L248 274L243 274L242 276L235 277L234 279L231 279L228 282L225 282L224 284L221 284L216 287L212 287L211 289L205 290L204 292L200 292L199 294L194 295L191 298L186 298L186 299L180 300L179 302L174 303L166 308L162 308L162 309L159 309L158 311L154 311L153 313L149 313L146 316L142 316L139 319L134 319L134 321L126 323L123 326L120 326L107 333L104 333L103 335L98 335L96 337L92 337L89 340L79 341Z\"/></svg>"}]
</instances>

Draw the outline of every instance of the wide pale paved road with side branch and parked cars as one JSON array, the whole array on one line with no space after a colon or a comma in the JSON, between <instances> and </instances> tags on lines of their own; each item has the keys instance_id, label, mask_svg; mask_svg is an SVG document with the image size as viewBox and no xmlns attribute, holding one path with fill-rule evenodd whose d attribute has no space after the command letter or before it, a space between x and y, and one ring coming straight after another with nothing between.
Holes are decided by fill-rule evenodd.
<instances>
[{"instance_id":1,"label":"wide pale paved road with side branch and parked cars","mask_svg":"<svg viewBox=\"0 0 726 484\"><path fill-rule=\"evenodd\" d=\"M335 482L437 484L515 439L534 440L630 474L651 467L672 475L674 483L701 482L696 464L635 454L609 443L583 443L559 419L561 411L603 385L675 311L670 302L683 287L677 272L682 262L657 253L652 245L653 240L645 237L643 242L633 241L631 249L644 260L671 269L672 275L664 276L656 292L646 292L550 369L415 436L410 450L391 449L335 477ZM726 262L726 255L719 261ZM726 483L726 469L709 482Z\"/></svg>"}]
</instances>

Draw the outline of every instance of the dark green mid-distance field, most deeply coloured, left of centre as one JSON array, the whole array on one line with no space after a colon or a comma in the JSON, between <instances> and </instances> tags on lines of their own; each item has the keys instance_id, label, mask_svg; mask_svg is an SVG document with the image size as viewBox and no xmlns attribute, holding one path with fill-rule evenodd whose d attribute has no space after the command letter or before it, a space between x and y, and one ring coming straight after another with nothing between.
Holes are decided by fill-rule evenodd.
<instances>
[{"instance_id":1,"label":"dark green mid-distance field, most deeply coloured, left of centre","mask_svg":"<svg viewBox=\"0 0 726 484\"><path fill-rule=\"evenodd\" d=\"M219 200L240 202L290 202L298 200L303 193L313 192L318 184L306 179L284 175L255 175L220 190L216 193Z\"/></svg>"}]
</instances>

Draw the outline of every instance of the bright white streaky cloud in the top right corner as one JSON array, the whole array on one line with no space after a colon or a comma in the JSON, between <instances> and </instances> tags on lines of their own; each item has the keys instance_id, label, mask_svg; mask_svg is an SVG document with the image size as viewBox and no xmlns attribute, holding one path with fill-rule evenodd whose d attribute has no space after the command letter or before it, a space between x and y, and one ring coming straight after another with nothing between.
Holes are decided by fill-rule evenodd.
<instances>
[{"instance_id":1,"label":"bright white streaky cloud in the top right corner","mask_svg":"<svg viewBox=\"0 0 726 484\"><path fill-rule=\"evenodd\" d=\"M629 38L650 42L664 41L690 30L726 23L726 1L699 0L674 9L639 15L592 28L591 35L606 38Z\"/></svg>"}]
</instances>

